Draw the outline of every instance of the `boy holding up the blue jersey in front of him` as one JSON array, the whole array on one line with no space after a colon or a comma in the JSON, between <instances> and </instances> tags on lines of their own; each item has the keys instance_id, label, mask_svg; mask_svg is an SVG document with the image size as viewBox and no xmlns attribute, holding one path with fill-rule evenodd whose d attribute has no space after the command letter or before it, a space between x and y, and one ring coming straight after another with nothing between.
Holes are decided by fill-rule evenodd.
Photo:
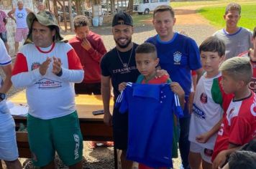
<instances>
[{"instance_id":1,"label":"boy holding up the blue jersey in front of him","mask_svg":"<svg viewBox=\"0 0 256 169\"><path fill-rule=\"evenodd\" d=\"M159 58L157 58L157 50L154 44L145 42L140 44L136 49L135 61L137 69L140 72L140 76L137 78L136 83L141 84L163 84L170 83L170 89L178 95L181 107L184 107L185 92L180 87L178 82L171 82L168 75L163 75L161 77L156 76L157 65L159 64ZM124 90L127 82L122 82L119 84L119 90ZM178 158L178 117L173 115L173 148L172 156L173 158ZM152 169L146 165L139 164L139 169Z\"/></svg>"}]
</instances>

